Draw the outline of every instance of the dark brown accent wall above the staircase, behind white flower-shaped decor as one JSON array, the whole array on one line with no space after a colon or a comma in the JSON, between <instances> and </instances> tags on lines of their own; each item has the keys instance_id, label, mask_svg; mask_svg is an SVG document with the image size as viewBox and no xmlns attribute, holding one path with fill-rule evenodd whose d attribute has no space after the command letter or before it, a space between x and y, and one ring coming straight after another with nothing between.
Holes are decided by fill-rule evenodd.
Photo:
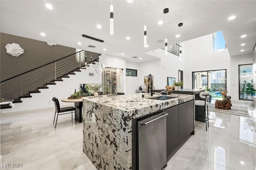
<instances>
[{"instance_id":1,"label":"dark brown accent wall above the staircase, behind white flower-shaped decor","mask_svg":"<svg viewBox=\"0 0 256 170\"><path fill-rule=\"evenodd\" d=\"M19 57L9 55L5 48L7 43L18 43L24 53ZM5 33L0 33L0 45L1 81L76 52L75 48L58 44L50 46L46 42Z\"/></svg>"}]
</instances>

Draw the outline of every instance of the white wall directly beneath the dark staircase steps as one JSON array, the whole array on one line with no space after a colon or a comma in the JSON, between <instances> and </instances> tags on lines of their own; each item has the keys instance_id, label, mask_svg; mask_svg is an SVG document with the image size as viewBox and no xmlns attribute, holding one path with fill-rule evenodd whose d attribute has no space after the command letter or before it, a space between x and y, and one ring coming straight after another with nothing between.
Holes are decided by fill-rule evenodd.
<instances>
[{"instance_id":1,"label":"white wall directly beneath the dark staircase steps","mask_svg":"<svg viewBox=\"0 0 256 170\"><path fill-rule=\"evenodd\" d=\"M93 68L97 66L97 62L92 65ZM76 75L69 75L70 78L56 81L56 85L48 85L49 89L40 89L41 93L31 93L31 98L22 98L22 103L14 103L14 107L3 109L3 113L55 107L53 97L59 100L60 106L74 105L74 103L62 102L61 99L67 99L75 89L79 91L80 84L101 83L99 78L101 74L96 73L94 69L88 67L80 70L81 72L75 72ZM94 73L94 76L89 76L89 73Z\"/></svg>"}]
</instances>

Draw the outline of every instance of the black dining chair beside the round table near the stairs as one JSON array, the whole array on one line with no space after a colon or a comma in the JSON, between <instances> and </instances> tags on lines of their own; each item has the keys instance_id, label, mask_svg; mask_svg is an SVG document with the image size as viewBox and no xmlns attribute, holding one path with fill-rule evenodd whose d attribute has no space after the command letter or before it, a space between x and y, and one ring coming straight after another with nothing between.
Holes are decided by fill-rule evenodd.
<instances>
[{"instance_id":1,"label":"black dining chair beside the round table near the stairs","mask_svg":"<svg viewBox=\"0 0 256 170\"><path fill-rule=\"evenodd\" d=\"M53 97L52 101L54 101L54 105L55 105L55 114L54 114L54 119L53 119L53 125L54 125L55 116L56 116L56 113L57 113L55 128L56 128L56 125L57 125L58 115L65 115L65 114L68 114L68 113L71 113L72 125L73 125L73 111L75 113L75 123L76 123L76 108L74 108L74 107L62 107L62 108L60 108L59 100L56 97ZM68 112L68 113L65 113L65 112ZM59 113L61 113L61 114L59 114Z\"/></svg>"}]
</instances>

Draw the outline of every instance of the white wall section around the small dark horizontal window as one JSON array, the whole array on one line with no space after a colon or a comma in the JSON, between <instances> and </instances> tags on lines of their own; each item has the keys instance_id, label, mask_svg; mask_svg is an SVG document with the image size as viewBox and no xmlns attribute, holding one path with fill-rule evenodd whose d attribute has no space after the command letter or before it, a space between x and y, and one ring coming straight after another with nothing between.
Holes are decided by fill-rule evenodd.
<instances>
[{"instance_id":1,"label":"white wall section around the small dark horizontal window","mask_svg":"<svg viewBox=\"0 0 256 170\"><path fill-rule=\"evenodd\" d=\"M133 94L133 93L135 93L135 90L139 90L139 87L142 86L142 85L139 84L139 77L138 77L138 74L140 72L139 63L135 63L135 62L132 62L132 61L126 61L126 69L138 70L137 71L137 77L135 77L135 76L125 76L125 78L126 78L126 94Z\"/></svg>"}]
</instances>

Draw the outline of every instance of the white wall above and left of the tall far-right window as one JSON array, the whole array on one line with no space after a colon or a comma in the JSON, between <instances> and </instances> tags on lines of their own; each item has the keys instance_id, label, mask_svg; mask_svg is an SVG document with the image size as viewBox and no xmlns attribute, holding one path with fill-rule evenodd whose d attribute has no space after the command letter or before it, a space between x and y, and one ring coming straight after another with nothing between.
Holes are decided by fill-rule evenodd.
<instances>
[{"instance_id":1,"label":"white wall above and left of the tall far-right window","mask_svg":"<svg viewBox=\"0 0 256 170\"><path fill-rule=\"evenodd\" d=\"M232 95L228 93L232 97L232 100L236 100L233 102L239 101L239 72L238 72L238 65L241 64L252 64L253 57L251 54L246 55L236 55L230 57L230 81L231 81L231 87L230 91L232 92ZM246 103L248 104L248 101L239 101L240 103Z\"/></svg>"}]
</instances>

